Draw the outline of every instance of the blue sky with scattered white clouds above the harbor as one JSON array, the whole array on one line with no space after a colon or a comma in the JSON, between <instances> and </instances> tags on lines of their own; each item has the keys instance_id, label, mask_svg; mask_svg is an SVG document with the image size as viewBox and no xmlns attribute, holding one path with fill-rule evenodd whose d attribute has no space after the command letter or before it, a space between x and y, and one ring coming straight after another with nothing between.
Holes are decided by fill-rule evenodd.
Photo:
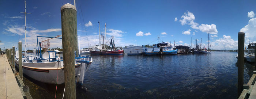
<instances>
[{"instance_id":1,"label":"blue sky with scattered white clouds above the harbor","mask_svg":"<svg viewBox=\"0 0 256 99\"><path fill-rule=\"evenodd\" d=\"M62 5L73 0L26 0L27 45L36 47L36 36L61 35ZM238 32L245 33L245 46L256 43L256 0L76 0L80 47L98 45L100 32L106 41L114 36L116 46L141 46L168 42L195 47L195 41L211 49L236 50ZM0 48L25 50L25 3L0 1ZM88 40L87 40L88 38ZM47 38L38 38L42 41ZM47 42L46 42L47 43ZM62 47L61 39L49 41Z\"/></svg>"}]
</instances>

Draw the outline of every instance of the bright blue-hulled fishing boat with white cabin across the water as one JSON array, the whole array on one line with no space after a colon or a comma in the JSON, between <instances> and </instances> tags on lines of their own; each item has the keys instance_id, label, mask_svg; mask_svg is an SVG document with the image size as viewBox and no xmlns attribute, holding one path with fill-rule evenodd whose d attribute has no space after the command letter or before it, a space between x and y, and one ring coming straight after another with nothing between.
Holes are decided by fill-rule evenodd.
<instances>
[{"instance_id":1,"label":"bright blue-hulled fishing boat with white cabin across the water","mask_svg":"<svg viewBox=\"0 0 256 99\"><path fill-rule=\"evenodd\" d=\"M143 47L143 55L173 55L177 54L178 49L173 49L172 45L170 43L159 43L159 37L158 37L158 44L155 44L155 46L149 45L151 47Z\"/></svg>"}]
</instances>

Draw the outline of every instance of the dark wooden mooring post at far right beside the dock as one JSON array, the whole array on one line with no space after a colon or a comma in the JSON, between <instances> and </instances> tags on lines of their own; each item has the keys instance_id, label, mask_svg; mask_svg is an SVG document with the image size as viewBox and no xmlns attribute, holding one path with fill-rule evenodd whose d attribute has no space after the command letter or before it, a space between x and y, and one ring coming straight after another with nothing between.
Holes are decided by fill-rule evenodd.
<instances>
[{"instance_id":1,"label":"dark wooden mooring post at far right beside the dock","mask_svg":"<svg viewBox=\"0 0 256 99\"><path fill-rule=\"evenodd\" d=\"M237 94L240 94L243 91L244 84L244 33L238 33L238 81L237 81Z\"/></svg>"}]
</instances>

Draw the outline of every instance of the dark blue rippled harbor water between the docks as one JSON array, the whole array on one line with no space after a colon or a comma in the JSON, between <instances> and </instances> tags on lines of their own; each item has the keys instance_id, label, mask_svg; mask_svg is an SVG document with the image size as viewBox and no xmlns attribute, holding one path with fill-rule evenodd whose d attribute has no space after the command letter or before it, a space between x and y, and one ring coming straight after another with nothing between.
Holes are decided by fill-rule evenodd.
<instances>
[{"instance_id":1,"label":"dark blue rippled harbor water between the docks","mask_svg":"<svg viewBox=\"0 0 256 99\"><path fill-rule=\"evenodd\" d=\"M79 99L102 98L237 98L236 52L173 56L93 55ZM244 83L254 64L245 62ZM56 85L25 79L34 99L54 98ZM62 98L64 85L58 85Z\"/></svg>"}]
</instances>

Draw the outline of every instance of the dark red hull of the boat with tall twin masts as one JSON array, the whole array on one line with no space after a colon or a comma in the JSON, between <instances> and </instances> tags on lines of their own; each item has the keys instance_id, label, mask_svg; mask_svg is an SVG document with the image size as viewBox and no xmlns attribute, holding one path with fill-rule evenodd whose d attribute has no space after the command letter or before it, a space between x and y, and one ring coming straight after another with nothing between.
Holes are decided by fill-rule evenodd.
<instances>
[{"instance_id":1,"label":"dark red hull of the boat with tall twin masts","mask_svg":"<svg viewBox=\"0 0 256 99\"><path fill-rule=\"evenodd\" d=\"M113 51L93 51L90 50L91 54L110 54L110 55L121 55L124 53L124 50L113 50Z\"/></svg>"}]
</instances>

